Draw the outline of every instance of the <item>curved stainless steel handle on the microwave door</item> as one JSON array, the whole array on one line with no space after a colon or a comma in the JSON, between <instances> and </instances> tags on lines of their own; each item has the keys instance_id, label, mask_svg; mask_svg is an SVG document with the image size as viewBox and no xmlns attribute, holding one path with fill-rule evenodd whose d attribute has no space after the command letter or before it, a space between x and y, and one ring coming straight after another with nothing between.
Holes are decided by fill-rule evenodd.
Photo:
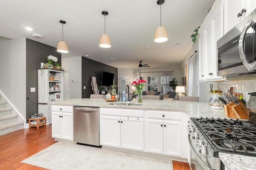
<instances>
[{"instance_id":1,"label":"curved stainless steel handle on the microwave door","mask_svg":"<svg viewBox=\"0 0 256 170\"><path fill-rule=\"evenodd\" d=\"M249 20L246 25L244 26L244 29L242 30L242 33L240 35L239 38L239 42L238 42L238 51L240 54L240 58L242 60L242 63L244 64L244 66L246 67L247 70L252 70L252 65L248 63L248 60L246 59L246 57L244 56L244 37L246 35L246 32L248 30L248 28L250 27L250 25L252 25L252 20Z\"/></svg>"}]
</instances>

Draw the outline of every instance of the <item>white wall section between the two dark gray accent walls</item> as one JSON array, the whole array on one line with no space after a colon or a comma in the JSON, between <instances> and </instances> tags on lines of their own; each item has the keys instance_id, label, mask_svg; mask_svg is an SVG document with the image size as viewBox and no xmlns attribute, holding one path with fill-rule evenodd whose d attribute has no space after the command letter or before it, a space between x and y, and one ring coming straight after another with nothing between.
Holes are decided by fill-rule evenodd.
<instances>
[{"instance_id":1,"label":"white wall section between the two dark gray accent walls","mask_svg":"<svg viewBox=\"0 0 256 170\"><path fill-rule=\"evenodd\" d=\"M61 66L69 70L69 98L82 98L82 56L62 57Z\"/></svg>"}]
</instances>

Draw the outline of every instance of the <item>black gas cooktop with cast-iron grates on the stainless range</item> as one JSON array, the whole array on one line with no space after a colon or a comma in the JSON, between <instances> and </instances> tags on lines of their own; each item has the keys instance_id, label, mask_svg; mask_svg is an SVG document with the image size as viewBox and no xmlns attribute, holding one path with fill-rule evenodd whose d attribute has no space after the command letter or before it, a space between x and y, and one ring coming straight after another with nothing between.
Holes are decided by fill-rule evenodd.
<instances>
[{"instance_id":1,"label":"black gas cooktop with cast-iron grates on the stainless range","mask_svg":"<svg viewBox=\"0 0 256 170\"><path fill-rule=\"evenodd\" d=\"M256 156L256 123L203 117L192 121L215 152Z\"/></svg>"}]
</instances>

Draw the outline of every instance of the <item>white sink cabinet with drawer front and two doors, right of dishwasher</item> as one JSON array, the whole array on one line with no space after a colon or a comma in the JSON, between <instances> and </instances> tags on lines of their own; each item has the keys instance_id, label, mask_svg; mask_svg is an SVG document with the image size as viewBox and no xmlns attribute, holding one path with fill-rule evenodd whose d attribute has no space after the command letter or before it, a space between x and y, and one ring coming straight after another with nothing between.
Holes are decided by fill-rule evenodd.
<instances>
[{"instance_id":1,"label":"white sink cabinet with drawer front and two doors, right of dishwasher","mask_svg":"<svg viewBox=\"0 0 256 170\"><path fill-rule=\"evenodd\" d=\"M144 150L143 112L100 108L100 145Z\"/></svg>"}]
</instances>

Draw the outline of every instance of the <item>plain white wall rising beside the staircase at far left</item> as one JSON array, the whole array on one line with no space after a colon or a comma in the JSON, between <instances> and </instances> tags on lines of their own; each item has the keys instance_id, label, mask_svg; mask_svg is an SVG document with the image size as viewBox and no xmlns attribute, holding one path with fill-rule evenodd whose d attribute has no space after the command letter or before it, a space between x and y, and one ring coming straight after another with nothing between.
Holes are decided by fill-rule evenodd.
<instances>
[{"instance_id":1,"label":"plain white wall rising beside the staircase at far left","mask_svg":"<svg viewBox=\"0 0 256 170\"><path fill-rule=\"evenodd\" d=\"M0 41L0 91L26 118L26 39Z\"/></svg>"}]
</instances>

